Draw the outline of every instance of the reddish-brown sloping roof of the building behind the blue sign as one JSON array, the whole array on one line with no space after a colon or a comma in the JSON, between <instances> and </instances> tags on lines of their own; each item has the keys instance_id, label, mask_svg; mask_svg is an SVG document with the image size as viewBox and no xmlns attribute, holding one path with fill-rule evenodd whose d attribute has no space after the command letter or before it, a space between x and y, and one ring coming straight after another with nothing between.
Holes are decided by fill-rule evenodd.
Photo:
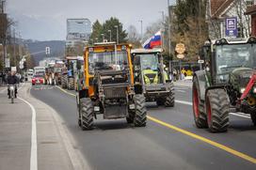
<instances>
[{"instance_id":1,"label":"reddish-brown sloping roof of the building behind the blue sign","mask_svg":"<svg viewBox=\"0 0 256 170\"><path fill-rule=\"evenodd\" d=\"M221 14L230 8L234 0L210 0L211 17L219 18Z\"/></svg>"}]
</instances>

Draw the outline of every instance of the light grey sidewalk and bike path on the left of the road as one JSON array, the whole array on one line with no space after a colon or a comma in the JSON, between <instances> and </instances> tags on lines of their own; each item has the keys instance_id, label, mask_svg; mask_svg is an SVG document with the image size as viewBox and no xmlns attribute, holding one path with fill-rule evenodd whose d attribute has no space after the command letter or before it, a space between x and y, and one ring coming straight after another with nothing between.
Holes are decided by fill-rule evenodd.
<instances>
[{"instance_id":1,"label":"light grey sidewalk and bike path on the left of the road","mask_svg":"<svg viewBox=\"0 0 256 170\"><path fill-rule=\"evenodd\" d=\"M29 170L31 152L32 110L24 100L31 103L36 110L37 151L36 162L40 170L81 169L79 162L73 162L75 155L72 148L68 150L56 122L55 111L29 94L29 85L25 84L19 91L14 104L8 100L7 92L1 93L0 87L0 169ZM72 154L71 154L72 153ZM33 159L32 159L33 160ZM35 159L34 159L35 160Z\"/></svg>"}]
</instances>

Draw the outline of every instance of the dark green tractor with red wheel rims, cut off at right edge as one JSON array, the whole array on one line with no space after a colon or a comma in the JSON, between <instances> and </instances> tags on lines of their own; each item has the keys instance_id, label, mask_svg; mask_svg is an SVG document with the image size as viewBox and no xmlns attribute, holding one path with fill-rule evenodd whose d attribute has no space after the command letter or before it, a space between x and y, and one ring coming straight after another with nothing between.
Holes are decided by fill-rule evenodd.
<instances>
[{"instance_id":1,"label":"dark green tractor with red wheel rims, cut off at right edge","mask_svg":"<svg viewBox=\"0 0 256 170\"><path fill-rule=\"evenodd\" d=\"M192 100L198 128L228 131L229 114L242 112L256 125L256 38L208 40L200 49L204 70L194 73Z\"/></svg>"}]
</instances>

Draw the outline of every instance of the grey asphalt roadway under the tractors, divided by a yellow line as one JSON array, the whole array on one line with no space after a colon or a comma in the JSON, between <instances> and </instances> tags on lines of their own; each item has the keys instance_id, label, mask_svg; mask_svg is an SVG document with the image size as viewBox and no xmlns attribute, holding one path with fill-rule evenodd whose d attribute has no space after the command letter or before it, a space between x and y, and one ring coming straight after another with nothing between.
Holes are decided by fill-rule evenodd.
<instances>
[{"instance_id":1,"label":"grey asphalt roadway under the tractors, divided by a yellow line","mask_svg":"<svg viewBox=\"0 0 256 170\"><path fill-rule=\"evenodd\" d=\"M251 120L231 115L231 126L225 133L197 129L189 105L189 87L176 88L179 102L174 108L147 104L148 115L164 121L165 125L149 119L147 127L134 128L124 119L100 117L95 120L93 131L81 131L78 127L72 95L57 87L33 87L31 94L62 116L77 142L73 147L82 152L92 169L256 169L256 128Z\"/></svg>"}]
</instances>

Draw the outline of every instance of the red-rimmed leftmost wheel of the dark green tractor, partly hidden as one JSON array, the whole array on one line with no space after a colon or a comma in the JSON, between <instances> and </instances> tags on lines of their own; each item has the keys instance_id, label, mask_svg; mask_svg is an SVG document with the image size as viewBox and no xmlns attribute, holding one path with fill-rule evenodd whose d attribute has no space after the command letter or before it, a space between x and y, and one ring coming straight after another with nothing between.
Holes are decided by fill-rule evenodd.
<instances>
[{"instance_id":1,"label":"red-rimmed leftmost wheel of the dark green tractor, partly hidden","mask_svg":"<svg viewBox=\"0 0 256 170\"><path fill-rule=\"evenodd\" d=\"M198 78L193 79L192 86L193 115L198 128L207 128L207 117L204 111L204 103L200 100L200 86Z\"/></svg>"}]
</instances>

